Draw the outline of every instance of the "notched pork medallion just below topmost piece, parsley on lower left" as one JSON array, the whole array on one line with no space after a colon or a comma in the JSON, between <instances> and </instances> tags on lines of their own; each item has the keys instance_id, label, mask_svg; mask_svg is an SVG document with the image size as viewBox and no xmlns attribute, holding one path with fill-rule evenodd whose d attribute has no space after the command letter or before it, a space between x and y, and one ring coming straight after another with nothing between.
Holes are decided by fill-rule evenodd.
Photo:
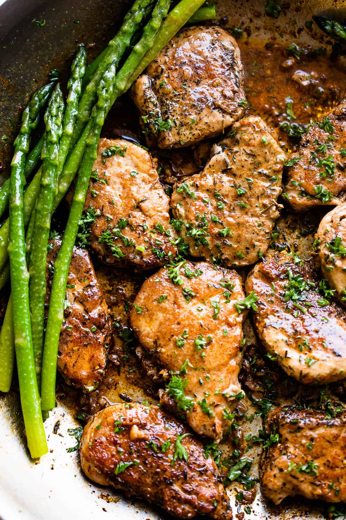
<instances>
[{"instance_id":1,"label":"notched pork medallion just below topmost piece, parsley on lower left","mask_svg":"<svg viewBox=\"0 0 346 520\"><path fill-rule=\"evenodd\" d=\"M285 155L260 118L232 126L202 173L177 183L173 225L192 256L228 267L249 265L271 242Z\"/></svg>"}]
</instances>

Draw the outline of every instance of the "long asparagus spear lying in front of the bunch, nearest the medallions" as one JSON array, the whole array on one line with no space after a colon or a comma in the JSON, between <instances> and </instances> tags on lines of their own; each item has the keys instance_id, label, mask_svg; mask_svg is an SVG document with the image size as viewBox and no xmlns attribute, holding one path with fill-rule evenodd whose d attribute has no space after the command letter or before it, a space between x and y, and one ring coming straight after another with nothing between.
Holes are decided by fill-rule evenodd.
<instances>
[{"instance_id":1,"label":"long asparagus spear lying in front of the bunch, nearest the medallions","mask_svg":"<svg viewBox=\"0 0 346 520\"><path fill-rule=\"evenodd\" d=\"M70 268L73 246L77 237L79 220L85 203L93 163L97 158L101 129L105 115L110 107L115 71L116 63L114 62L110 64L104 73L98 88L98 102L92 110L91 129L77 177L70 214L68 215L60 250L54 263L42 363L41 399L43 410L52 410L55 406L57 355L60 330L64 317L68 269Z\"/></svg>"}]
</instances>

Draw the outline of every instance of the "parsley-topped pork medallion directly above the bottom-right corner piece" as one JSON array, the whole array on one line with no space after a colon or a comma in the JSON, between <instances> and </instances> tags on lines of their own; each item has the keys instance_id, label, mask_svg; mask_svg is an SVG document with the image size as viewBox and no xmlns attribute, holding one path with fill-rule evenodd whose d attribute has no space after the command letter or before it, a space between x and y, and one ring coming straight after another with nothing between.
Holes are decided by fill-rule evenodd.
<instances>
[{"instance_id":1,"label":"parsley-topped pork medallion directly above the bottom-right corner piece","mask_svg":"<svg viewBox=\"0 0 346 520\"><path fill-rule=\"evenodd\" d=\"M305 384L346 377L344 313L307 264L275 254L256 264L245 288L258 298L254 321L260 340L288 375Z\"/></svg>"}]
</instances>

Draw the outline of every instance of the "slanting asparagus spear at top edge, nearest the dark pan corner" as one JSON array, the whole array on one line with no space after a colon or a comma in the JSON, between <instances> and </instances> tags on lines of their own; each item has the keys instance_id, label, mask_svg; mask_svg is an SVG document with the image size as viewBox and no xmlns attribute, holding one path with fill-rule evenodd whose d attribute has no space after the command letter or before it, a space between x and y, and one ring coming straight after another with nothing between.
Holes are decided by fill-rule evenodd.
<instances>
[{"instance_id":1,"label":"slanting asparagus spear at top edge, nearest the dark pan corner","mask_svg":"<svg viewBox=\"0 0 346 520\"><path fill-rule=\"evenodd\" d=\"M107 51L104 54L103 59L99 62L98 68L80 98L72 146L75 145L77 139L89 121L91 109L97 97L97 88L103 74L110 63L115 61L118 64L124 51L129 47L132 36L141 27L143 19L151 11L152 5L153 0L135 0L133 6L125 16L118 33L113 40L108 43Z\"/></svg>"}]
</instances>

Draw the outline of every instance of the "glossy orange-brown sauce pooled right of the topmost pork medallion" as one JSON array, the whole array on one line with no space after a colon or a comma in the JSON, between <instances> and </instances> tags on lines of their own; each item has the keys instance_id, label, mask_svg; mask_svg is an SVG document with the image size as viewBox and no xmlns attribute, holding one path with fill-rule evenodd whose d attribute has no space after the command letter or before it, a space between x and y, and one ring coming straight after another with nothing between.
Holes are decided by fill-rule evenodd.
<instances>
[{"instance_id":1,"label":"glossy orange-brown sauce pooled right of the topmost pork medallion","mask_svg":"<svg viewBox=\"0 0 346 520\"><path fill-rule=\"evenodd\" d=\"M317 46L305 55L302 47L297 50L288 42L248 44L240 39L238 44L248 112L279 130L281 145L295 150L299 139L289 139L280 125L297 123L303 128L333 108L344 93L346 72L330 57L319 55Z\"/></svg>"}]
</instances>

